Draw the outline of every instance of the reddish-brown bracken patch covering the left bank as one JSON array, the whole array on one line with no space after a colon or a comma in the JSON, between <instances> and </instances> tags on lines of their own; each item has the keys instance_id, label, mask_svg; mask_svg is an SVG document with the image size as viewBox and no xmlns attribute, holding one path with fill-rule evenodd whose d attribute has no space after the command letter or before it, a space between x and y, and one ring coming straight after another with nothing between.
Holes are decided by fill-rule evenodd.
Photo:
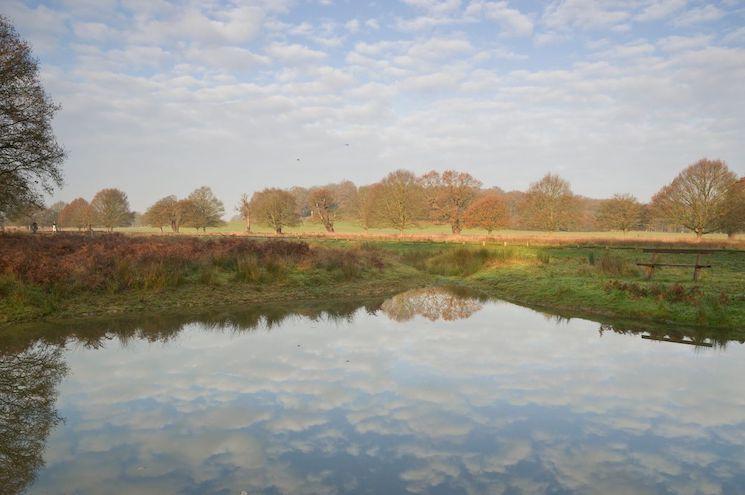
<instances>
[{"instance_id":1,"label":"reddish-brown bracken patch covering the left bank","mask_svg":"<svg viewBox=\"0 0 745 495\"><path fill-rule=\"evenodd\" d=\"M64 290L158 289L195 274L211 284L219 279L218 269L237 271L237 260L246 257L259 260L276 277L288 263L311 254L305 242L117 234L11 235L0 244L0 274Z\"/></svg>"}]
</instances>

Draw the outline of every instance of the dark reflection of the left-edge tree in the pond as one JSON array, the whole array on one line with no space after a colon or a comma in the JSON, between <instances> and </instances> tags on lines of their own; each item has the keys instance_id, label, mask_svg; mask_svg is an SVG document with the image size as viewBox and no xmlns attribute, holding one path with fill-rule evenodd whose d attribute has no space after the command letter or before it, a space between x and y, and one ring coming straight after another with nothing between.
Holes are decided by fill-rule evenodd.
<instances>
[{"instance_id":1,"label":"dark reflection of the left-edge tree in the pond","mask_svg":"<svg viewBox=\"0 0 745 495\"><path fill-rule=\"evenodd\" d=\"M60 421L57 387L67 367L58 347L0 350L0 487L21 493L44 464L44 444Z\"/></svg>"}]
</instances>

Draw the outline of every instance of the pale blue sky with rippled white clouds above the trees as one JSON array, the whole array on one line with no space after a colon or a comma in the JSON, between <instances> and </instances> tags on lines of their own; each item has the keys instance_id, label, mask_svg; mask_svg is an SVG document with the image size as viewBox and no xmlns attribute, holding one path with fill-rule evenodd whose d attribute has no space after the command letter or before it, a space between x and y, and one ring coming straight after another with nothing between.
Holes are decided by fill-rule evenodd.
<instances>
[{"instance_id":1,"label":"pale blue sky with rippled white clouds above the trees","mask_svg":"<svg viewBox=\"0 0 745 495\"><path fill-rule=\"evenodd\" d=\"M745 175L745 0L0 1L62 109L65 184L136 210L390 171L648 200Z\"/></svg>"}]
</instances>

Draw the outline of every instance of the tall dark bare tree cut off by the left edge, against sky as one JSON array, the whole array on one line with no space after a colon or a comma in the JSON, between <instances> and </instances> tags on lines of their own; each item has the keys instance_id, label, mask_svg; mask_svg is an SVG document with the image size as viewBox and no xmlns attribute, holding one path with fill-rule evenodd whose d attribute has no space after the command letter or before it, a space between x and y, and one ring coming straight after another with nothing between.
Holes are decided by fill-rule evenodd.
<instances>
[{"instance_id":1,"label":"tall dark bare tree cut off by the left edge, against sky","mask_svg":"<svg viewBox=\"0 0 745 495\"><path fill-rule=\"evenodd\" d=\"M0 16L0 213L41 205L62 184L65 152L52 132L59 109L44 92L28 43Z\"/></svg>"}]
</instances>

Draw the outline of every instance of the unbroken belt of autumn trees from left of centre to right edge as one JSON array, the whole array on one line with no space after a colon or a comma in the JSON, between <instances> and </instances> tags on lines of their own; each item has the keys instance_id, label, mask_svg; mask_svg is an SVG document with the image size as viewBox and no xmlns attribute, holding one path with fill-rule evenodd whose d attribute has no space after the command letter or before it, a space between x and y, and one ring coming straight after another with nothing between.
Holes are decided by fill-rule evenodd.
<instances>
[{"instance_id":1,"label":"unbroken belt of autumn trees from left of centre to right edge","mask_svg":"<svg viewBox=\"0 0 745 495\"><path fill-rule=\"evenodd\" d=\"M721 160L702 159L686 167L648 204L631 194L591 199L574 194L569 182L546 174L527 191L485 189L467 172L431 171L417 176L391 172L381 181L356 187L350 181L321 187L269 188L244 195L238 207L246 230L251 222L282 233L301 221L317 221L334 232L337 220L357 222L364 230L389 227L403 232L421 222L447 224L453 234L464 228L561 230L675 230L697 237L745 231L745 179Z\"/></svg>"}]
</instances>

